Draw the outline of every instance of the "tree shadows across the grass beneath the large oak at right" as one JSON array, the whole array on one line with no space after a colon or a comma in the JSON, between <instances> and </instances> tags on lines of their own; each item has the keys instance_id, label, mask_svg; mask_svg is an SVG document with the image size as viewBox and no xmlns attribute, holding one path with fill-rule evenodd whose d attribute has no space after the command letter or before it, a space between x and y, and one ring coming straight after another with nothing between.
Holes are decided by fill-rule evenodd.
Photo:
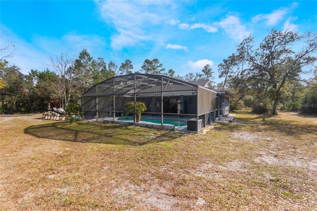
<instances>
[{"instance_id":1,"label":"tree shadows across the grass beneath the large oak at right","mask_svg":"<svg viewBox=\"0 0 317 211\"><path fill-rule=\"evenodd\" d=\"M258 115L251 111L238 111L235 120L237 123L230 123L227 125L218 126L218 129L237 131L241 129L256 130L257 132L274 132L281 135L300 137L302 135L317 133L316 123L309 121L305 118L315 117L303 116L295 114L294 118L287 118L284 116L272 116L272 115ZM286 113L287 114L287 113Z\"/></svg>"}]
</instances>

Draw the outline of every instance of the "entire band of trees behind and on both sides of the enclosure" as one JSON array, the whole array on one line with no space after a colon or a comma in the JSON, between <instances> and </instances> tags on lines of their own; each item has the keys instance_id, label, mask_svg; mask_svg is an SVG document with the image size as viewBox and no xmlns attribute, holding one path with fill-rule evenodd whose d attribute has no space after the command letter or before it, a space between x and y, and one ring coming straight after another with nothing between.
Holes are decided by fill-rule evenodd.
<instances>
[{"instance_id":1,"label":"entire band of trees behind and on both sides of the enclosure","mask_svg":"<svg viewBox=\"0 0 317 211\"><path fill-rule=\"evenodd\" d=\"M301 46L301 49L294 47ZM18 66L9 64L0 50L0 113L36 113L47 109L48 104L66 108L80 105L80 96L93 85L108 78L131 73L160 74L184 81L213 80L209 64L200 72L185 76L166 70L158 58L145 59L141 69L134 71L127 59L120 66L113 61L93 58L83 49L77 58L61 53L51 57L49 68L31 69L24 75ZM291 31L271 30L258 47L249 36L237 46L237 51L218 65L223 81L215 88L234 94L231 108L252 107L258 113L277 114L278 109L317 113L317 36L299 35ZM309 80L301 75L313 73ZM213 82L212 82L213 83Z\"/></svg>"}]
</instances>

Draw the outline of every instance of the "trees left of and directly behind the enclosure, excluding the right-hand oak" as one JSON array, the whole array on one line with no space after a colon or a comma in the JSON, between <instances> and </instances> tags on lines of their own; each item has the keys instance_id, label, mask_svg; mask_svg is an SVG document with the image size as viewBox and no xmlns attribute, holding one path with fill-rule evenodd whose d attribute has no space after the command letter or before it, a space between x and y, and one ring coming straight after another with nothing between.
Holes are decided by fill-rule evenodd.
<instances>
[{"instance_id":1,"label":"trees left of and directly behind the enclosure, excluding the right-hand oak","mask_svg":"<svg viewBox=\"0 0 317 211\"><path fill-rule=\"evenodd\" d=\"M80 105L80 96L93 85L108 78L131 73L162 74L182 80L204 80L212 78L212 68L206 65L204 74L190 73L185 77L166 71L158 58L145 59L141 69L133 71L131 60L118 67L113 61L93 58L83 49L73 59L61 53L51 57L50 68L43 71L31 69L24 75L18 66L10 65L3 56L0 60L0 113L43 112L48 104L66 108L70 103Z\"/></svg>"}]
</instances>

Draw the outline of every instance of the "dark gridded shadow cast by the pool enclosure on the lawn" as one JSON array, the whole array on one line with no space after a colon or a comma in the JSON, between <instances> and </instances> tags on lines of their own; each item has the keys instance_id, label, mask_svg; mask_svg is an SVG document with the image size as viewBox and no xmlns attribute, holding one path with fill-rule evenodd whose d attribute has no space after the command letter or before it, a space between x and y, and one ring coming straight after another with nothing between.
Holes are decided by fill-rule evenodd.
<instances>
[{"instance_id":1,"label":"dark gridded shadow cast by the pool enclosure on the lawn","mask_svg":"<svg viewBox=\"0 0 317 211\"><path fill-rule=\"evenodd\" d=\"M33 125L25 128L24 133L61 141L132 146L173 140L183 135L174 131L83 121Z\"/></svg>"}]
</instances>

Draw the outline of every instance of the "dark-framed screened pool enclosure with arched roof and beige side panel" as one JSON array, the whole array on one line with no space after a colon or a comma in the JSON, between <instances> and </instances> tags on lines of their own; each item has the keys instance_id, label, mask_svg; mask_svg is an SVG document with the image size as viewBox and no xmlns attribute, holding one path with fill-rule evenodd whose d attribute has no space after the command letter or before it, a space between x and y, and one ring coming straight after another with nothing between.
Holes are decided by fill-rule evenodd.
<instances>
[{"instance_id":1,"label":"dark-framed screened pool enclosure with arched roof and beige side panel","mask_svg":"<svg viewBox=\"0 0 317 211\"><path fill-rule=\"evenodd\" d=\"M107 79L82 95L85 119L97 120L126 115L125 104L143 102L142 115L164 118L184 116L190 119L188 130L199 131L214 121L216 91L198 84L163 75L129 74ZM132 115L130 113L129 115Z\"/></svg>"}]
</instances>

